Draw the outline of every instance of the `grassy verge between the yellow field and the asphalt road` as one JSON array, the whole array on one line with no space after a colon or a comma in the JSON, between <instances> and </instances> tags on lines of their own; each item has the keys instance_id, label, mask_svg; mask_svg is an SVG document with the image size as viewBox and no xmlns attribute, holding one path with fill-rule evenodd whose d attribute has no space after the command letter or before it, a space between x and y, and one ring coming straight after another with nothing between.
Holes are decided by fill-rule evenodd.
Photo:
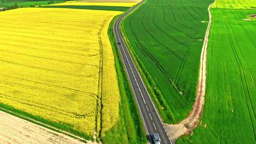
<instances>
[{"instance_id":1,"label":"grassy verge between the yellow field and the asphalt road","mask_svg":"<svg viewBox=\"0 0 256 144\"><path fill-rule=\"evenodd\" d=\"M137 104L128 82L119 51L115 42L113 25L119 16L112 19L109 27L109 38L115 57L116 72L119 81L119 90L121 96L120 120L104 137L101 138L104 144L145 144L146 132L140 114L137 110Z\"/></svg>"}]
</instances>

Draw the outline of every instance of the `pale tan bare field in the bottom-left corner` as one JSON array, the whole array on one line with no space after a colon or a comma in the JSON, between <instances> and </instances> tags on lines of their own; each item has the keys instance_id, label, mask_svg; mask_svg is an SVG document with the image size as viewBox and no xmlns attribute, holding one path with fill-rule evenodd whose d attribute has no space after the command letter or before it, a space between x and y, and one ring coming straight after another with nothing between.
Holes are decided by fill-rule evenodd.
<instances>
[{"instance_id":1,"label":"pale tan bare field in the bottom-left corner","mask_svg":"<svg viewBox=\"0 0 256 144\"><path fill-rule=\"evenodd\" d=\"M0 111L0 144L85 144ZM88 142L87 144L97 144Z\"/></svg>"}]
</instances>

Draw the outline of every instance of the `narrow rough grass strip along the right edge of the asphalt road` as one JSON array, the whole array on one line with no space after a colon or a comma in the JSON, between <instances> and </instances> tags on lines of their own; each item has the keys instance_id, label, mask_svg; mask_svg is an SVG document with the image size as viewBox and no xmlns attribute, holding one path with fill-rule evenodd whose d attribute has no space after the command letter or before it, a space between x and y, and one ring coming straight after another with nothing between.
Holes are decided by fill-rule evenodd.
<instances>
[{"instance_id":1,"label":"narrow rough grass strip along the right edge of the asphalt road","mask_svg":"<svg viewBox=\"0 0 256 144\"><path fill-rule=\"evenodd\" d=\"M145 2L142 5L144 5L146 2L147 2L147 0L145 0ZM140 5L136 9L134 9L130 14L128 14L125 18L123 18L123 20L121 21L121 25L120 25L121 26L120 27L121 35L123 36L124 41L125 41L126 45L128 46L128 51L129 51L130 55L132 56L134 63L136 64L137 70L138 70L139 74L141 75L143 82L146 85L148 93L150 94L151 98L154 100L155 107L157 108L158 112L160 113L161 118L163 119L163 121L165 123L172 123L173 121L170 120L170 119L172 119L172 117L170 117L170 116L172 116L173 114L171 113L170 109L168 109L168 105L165 102L165 99L163 98L161 91L158 90L154 79L146 71L144 64L139 60L137 54L134 52L134 50L133 50L132 46L130 45L129 40L126 36L126 33L125 33L124 21L126 20L126 18L129 15L131 15L135 10L139 9L142 5ZM169 115L168 115L168 113L169 113Z\"/></svg>"}]
</instances>

